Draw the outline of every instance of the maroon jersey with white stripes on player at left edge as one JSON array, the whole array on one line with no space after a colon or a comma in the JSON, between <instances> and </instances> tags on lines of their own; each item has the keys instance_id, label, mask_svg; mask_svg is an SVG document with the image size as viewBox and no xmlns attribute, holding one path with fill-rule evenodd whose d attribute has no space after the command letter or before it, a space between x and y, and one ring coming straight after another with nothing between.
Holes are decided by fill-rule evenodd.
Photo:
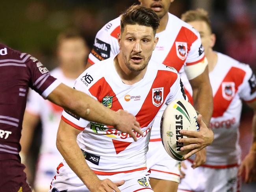
<instances>
[{"instance_id":1,"label":"maroon jersey with white stripes on player at left edge","mask_svg":"<svg viewBox=\"0 0 256 192\"><path fill-rule=\"evenodd\" d=\"M19 154L28 88L46 98L58 85L35 57L0 44L0 160Z\"/></svg>"}]
</instances>

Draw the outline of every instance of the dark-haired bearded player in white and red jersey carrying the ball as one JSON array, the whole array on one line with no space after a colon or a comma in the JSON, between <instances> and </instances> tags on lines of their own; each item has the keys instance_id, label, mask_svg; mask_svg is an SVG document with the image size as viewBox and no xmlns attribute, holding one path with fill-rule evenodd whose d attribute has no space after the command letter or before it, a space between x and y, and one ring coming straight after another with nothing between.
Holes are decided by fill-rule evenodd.
<instances>
[{"instance_id":1,"label":"dark-haired bearded player in white and red jersey carrying the ball","mask_svg":"<svg viewBox=\"0 0 256 192\"><path fill-rule=\"evenodd\" d=\"M158 37L155 38L158 24L159 18L151 9L141 5L128 8L121 16L120 53L85 70L74 86L108 108L125 109L135 114L143 135L137 135L137 142L133 142L128 134L111 131L108 126L89 123L64 111L57 147L65 161L57 169L52 192L57 189L70 192L88 189L92 192L152 191L146 165L148 133L164 104L176 98L186 99L176 70L150 60L158 42ZM90 83L85 82L87 78L91 79ZM161 99L157 101L155 95ZM212 131L202 122L201 116L198 120L199 132L183 132L196 138L181 139L181 142L193 143L182 150L200 150L211 143Z\"/></svg>"}]
</instances>

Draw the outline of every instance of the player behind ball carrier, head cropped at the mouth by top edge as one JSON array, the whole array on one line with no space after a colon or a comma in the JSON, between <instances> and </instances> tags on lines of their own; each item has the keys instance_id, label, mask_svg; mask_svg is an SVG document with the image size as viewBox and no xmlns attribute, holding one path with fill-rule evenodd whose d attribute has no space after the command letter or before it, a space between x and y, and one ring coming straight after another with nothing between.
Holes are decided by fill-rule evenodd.
<instances>
[{"instance_id":1,"label":"player behind ball carrier, head cropped at the mouth by top edge","mask_svg":"<svg viewBox=\"0 0 256 192\"><path fill-rule=\"evenodd\" d=\"M187 23L168 12L173 1L139 0L160 17L160 26L156 33L159 41L153 51L152 59L172 66L180 73L186 73L193 88L195 109L209 123L213 101L208 67L206 67L207 60L204 57L200 35ZM98 31L87 67L119 52L118 33L120 33L120 17L108 22ZM147 165L151 170L150 183L156 192L175 192L180 182L179 162L169 157L161 143L159 125L164 109L165 107L161 109L152 127ZM205 150L197 153L193 168L204 163L205 159Z\"/></svg>"}]
</instances>

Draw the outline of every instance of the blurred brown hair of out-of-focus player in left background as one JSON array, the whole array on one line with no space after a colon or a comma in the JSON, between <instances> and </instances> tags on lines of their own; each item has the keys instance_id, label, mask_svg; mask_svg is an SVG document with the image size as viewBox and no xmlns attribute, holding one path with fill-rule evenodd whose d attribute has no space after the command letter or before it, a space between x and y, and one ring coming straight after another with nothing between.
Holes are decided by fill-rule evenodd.
<instances>
[{"instance_id":1,"label":"blurred brown hair of out-of-focus player in left background","mask_svg":"<svg viewBox=\"0 0 256 192\"><path fill-rule=\"evenodd\" d=\"M82 33L76 29L67 29L60 33L57 37L58 46L61 44L63 40L66 39L82 39L85 45L87 45L87 42L85 41L85 38L83 37Z\"/></svg>"}]
</instances>

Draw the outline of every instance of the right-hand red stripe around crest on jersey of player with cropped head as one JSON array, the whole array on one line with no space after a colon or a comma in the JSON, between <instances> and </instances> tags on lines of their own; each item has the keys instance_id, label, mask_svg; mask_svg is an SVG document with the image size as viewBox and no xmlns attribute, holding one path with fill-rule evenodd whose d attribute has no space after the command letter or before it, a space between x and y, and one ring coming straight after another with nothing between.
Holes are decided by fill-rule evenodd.
<instances>
[{"instance_id":1,"label":"right-hand red stripe around crest on jersey of player with cropped head","mask_svg":"<svg viewBox=\"0 0 256 192\"><path fill-rule=\"evenodd\" d=\"M190 37L187 39L187 37ZM197 40L197 36L190 31L189 29L182 27L173 43L173 46L171 50L169 51L168 55L166 56L165 60L163 61L163 64L167 66L174 67L177 71L180 71L182 66L184 65L187 58L184 58L183 60L178 57L178 51L176 50L176 42L187 42L187 50L186 53L189 52L190 47L194 41Z\"/></svg>"}]
</instances>

